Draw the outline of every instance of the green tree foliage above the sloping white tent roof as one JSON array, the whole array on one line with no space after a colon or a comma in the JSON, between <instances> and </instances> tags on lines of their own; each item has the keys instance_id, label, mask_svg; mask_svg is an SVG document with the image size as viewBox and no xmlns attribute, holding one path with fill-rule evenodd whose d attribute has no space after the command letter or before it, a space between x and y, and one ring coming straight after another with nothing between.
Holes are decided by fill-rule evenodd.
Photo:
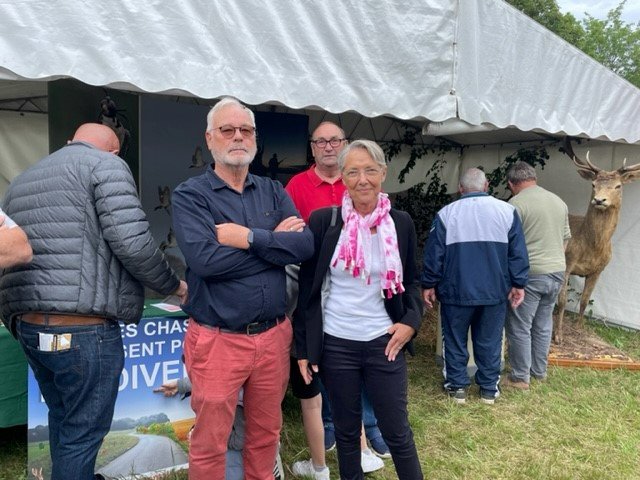
<instances>
[{"instance_id":1,"label":"green tree foliage above the sloping white tent roof","mask_svg":"<svg viewBox=\"0 0 640 480\"><path fill-rule=\"evenodd\" d=\"M608 67L636 87L640 87L640 22L622 20L627 0L609 11L607 18L585 14L578 21L560 12L555 0L507 0L556 35Z\"/></svg>"}]
</instances>

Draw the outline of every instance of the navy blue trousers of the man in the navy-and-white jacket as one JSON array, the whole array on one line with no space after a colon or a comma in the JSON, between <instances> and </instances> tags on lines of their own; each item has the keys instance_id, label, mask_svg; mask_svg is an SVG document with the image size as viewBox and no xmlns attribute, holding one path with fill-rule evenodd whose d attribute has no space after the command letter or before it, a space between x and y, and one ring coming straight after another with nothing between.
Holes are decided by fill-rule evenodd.
<instances>
[{"instance_id":1,"label":"navy blue trousers of the man in the navy-and-white jacket","mask_svg":"<svg viewBox=\"0 0 640 480\"><path fill-rule=\"evenodd\" d=\"M465 388L471 383L467 375L467 338L471 328L474 360L478 367L476 384L482 393L498 396L506 313L507 302L474 306L441 304L445 388Z\"/></svg>"}]
</instances>

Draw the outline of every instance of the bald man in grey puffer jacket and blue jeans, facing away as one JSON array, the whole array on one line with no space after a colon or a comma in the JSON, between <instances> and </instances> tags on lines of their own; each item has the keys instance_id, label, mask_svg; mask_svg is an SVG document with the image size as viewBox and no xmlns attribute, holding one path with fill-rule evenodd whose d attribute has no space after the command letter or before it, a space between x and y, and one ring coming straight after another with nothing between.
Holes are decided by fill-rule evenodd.
<instances>
[{"instance_id":1,"label":"bald man in grey puffer jacket and blue jeans, facing away","mask_svg":"<svg viewBox=\"0 0 640 480\"><path fill-rule=\"evenodd\" d=\"M143 285L186 300L157 248L115 133L87 123L19 175L4 210L30 264L0 277L0 313L49 407L52 480L93 480L124 364L118 320L137 322Z\"/></svg>"}]
</instances>

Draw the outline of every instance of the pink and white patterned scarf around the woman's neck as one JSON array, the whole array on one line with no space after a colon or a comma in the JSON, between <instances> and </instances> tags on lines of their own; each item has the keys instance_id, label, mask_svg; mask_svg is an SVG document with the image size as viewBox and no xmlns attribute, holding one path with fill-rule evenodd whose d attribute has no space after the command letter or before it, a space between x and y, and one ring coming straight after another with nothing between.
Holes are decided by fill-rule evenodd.
<instances>
[{"instance_id":1,"label":"pink and white patterned scarf around the woman's neck","mask_svg":"<svg viewBox=\"0 0 640 480\"><path fill-rule=\"evenodd\" d=\"M338 255L333 262L335 267L342 261L345 270L354 277L362 278L367 285L371 283L371 228L376 227L380 252L383 253L380 284L383 298L404 292L402 285L402 262L398 251L396 226L389 215L391 202L386 193L378 194L378 204L369 215L361 216L353 208L349 192L342 197L342 219L344 228L338 240Z\"/></svg>"}]
</instances>

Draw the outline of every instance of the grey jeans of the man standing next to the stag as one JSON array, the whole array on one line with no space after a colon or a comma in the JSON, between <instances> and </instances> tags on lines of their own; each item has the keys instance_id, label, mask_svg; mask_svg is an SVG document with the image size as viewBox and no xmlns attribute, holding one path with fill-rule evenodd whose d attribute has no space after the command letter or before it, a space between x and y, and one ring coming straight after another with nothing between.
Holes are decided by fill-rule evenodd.
<instances>
[{"instance_id":1,"label":"grey jeans of the man standing next to the stag","mask_svg":"<svg viewBox=\"0 0 640 480\"><path fill-rule=\"evenodd\" d=\"M553 330L553 306L564 272L529 275L524 301L509 308L505 331L509 342L511 379L529 383L531 376L547 376L547 357Z\"/></svg>"}]
</instances>

